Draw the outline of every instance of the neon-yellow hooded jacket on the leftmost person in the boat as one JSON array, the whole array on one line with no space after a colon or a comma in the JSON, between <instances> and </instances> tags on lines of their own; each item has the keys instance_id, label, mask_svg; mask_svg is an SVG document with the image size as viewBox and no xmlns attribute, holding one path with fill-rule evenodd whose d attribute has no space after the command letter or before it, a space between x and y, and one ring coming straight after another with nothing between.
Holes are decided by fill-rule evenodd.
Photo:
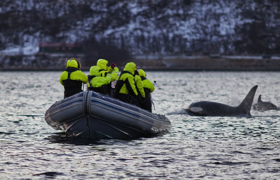
<instances>
[{"instance_id":1,"label":"neon-yellow hooded jacket on the leftmost person in the boat","mask_svg":"<svg viewBox=\"0 0 280 180\"><path fill-rule=\"evenodd\" d=\"M70 68L72 67L72 68ZM68 74L69 72L67 70L70 70L70 80L76 80L81 81L82 83L86 84L88 82L88 77L80 70L78 70L78 63L76 60L68 60L66 65L66 70L62 72L60 75L60 83L65 86L66 81L68 80Z\"/></svg>"}]
</instances>

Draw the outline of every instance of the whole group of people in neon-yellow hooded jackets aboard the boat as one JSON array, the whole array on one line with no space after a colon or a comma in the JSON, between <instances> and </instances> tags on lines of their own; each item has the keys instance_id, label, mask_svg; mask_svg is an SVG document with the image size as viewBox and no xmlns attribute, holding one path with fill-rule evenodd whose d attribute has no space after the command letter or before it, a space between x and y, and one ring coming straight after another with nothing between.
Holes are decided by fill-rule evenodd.
<instances>
[{"instance_id":1,"label":"whole group of people in neon-yellow hooded jackets aboard the boat","mask_svg":"<svg viewBox=\"0 0 280 180\"><path fill-rule=\"evenodd\" d=\"M119 73L116 64L107 67L108 61L99 59L96 66L90 67L90 75L81 71L81 63L76 58L67 60L66 69L60 75L64 86L64 98L82 92L82 84L87 90L111 96L123 102L134 104L152 112L150 93L155 90L153 83L146 78L143 69L136 69L134 62L125 65Z\"/></svg>"}]
</instances>

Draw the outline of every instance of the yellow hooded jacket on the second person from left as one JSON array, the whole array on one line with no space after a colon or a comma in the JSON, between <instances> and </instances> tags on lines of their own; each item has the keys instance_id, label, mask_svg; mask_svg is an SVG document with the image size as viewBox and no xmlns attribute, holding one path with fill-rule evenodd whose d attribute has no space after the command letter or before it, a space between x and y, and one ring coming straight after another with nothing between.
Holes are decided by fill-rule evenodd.
<instances>
[{"instance_id":1,"label":"yellow hooded jacket on the second person from left","mask_svg":"<svg viewBox=\"0 0 280 180\"><path fill-rule=\"evenodd\" d=\"M99 88L99 87L101 87L104 84L110 83L110 81L111 81L111 74L108 73L106 75L106 77L100 77L99 76L99 69L100 68L98 66L92 66L90 68L90 76L88 76L88 78L89 78L88 87ZM92 76L94 76L94 77L92 77Z\"/></svg>"}]
</instances>

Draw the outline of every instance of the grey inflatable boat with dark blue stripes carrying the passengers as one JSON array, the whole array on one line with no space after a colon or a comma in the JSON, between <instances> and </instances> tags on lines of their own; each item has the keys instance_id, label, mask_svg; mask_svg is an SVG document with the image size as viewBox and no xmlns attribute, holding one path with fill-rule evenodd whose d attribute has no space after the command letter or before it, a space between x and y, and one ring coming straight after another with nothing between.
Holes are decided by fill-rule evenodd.
<instances>
[{"instance_id":1,"label":"grey inflatable boat with dark blue stripes carrying the passengers","mask_svg":"<svg viewBox=\"0 0 280 180\"><path fill-rule=\"evenodd\" d=\"M48 125L69 136L86 138L144 137L169 132L164 115L93 91L83 91L55 102L45 114Z\"/></svg>"}]
</instances>

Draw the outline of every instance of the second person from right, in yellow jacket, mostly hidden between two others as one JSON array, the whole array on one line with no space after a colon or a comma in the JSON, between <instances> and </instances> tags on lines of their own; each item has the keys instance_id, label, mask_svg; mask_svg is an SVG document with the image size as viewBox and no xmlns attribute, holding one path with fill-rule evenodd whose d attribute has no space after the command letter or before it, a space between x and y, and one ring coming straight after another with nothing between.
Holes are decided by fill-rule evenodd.
<instances>
[{"instance_id":1,"label":"second person from right, in yellow jacket, mostly hidden between two others","mask_svg":"<svg viewBox=\"0 0 280 180\"><path fill-rule=\"evenodd\" d=\"M134 80L135 80L135 87L140 95L140 99L135 99L133 96L131 97L131 104L134 104L135 106L141 107L141 104L145 102L145 92L143 89L143 84L141 77L139 76L139 71L136 69L134 71Z\"/></svg>"}]
</instances>

